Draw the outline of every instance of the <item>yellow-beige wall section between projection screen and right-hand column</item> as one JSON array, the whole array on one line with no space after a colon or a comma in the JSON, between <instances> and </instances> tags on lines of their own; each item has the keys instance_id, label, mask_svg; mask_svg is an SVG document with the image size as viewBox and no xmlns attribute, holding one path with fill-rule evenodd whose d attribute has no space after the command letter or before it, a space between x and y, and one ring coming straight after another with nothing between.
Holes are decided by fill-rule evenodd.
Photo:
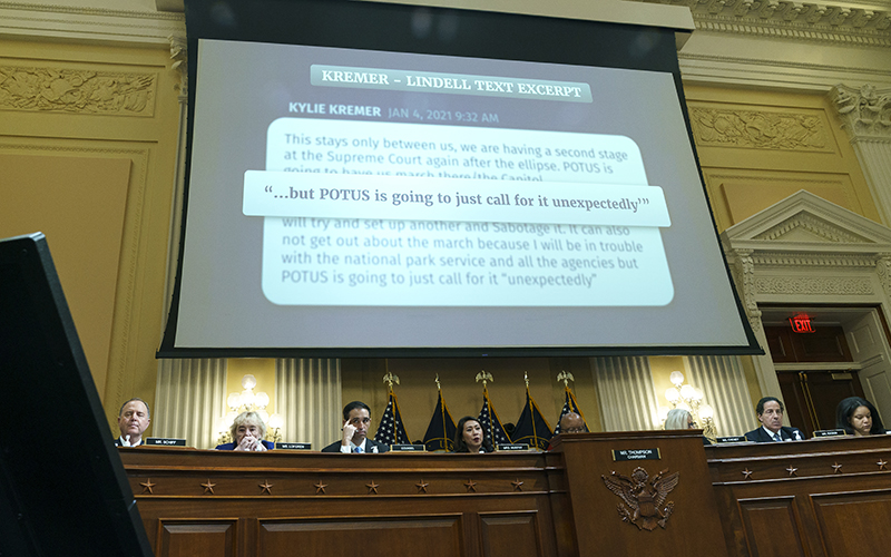
<instances>
[{"instance_id":1,"label":"yellow-beige wall section between projection screen and right-hand column","mask_svg":"<svg viewBox=\"0 0 891 557\"><path fill-rule=\"evenodd\" d=\"M800 189L880 222L828 95L685 86L718 232Z\"/></svg>"}]
</instances>

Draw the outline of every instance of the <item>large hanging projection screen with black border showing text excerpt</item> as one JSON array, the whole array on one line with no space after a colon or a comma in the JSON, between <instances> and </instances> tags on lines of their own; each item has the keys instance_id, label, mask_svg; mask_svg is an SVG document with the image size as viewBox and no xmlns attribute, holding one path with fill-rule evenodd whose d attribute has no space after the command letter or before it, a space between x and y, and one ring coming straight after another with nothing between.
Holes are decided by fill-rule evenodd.
<instances>
[{"instance_id":1,"label":"large hanging projection screen with black border showing text excerpt","mask_svg":"<svg viewBox=\"0 0 891 557\"><path fill-rule=\"evenodd\" d=\"M760 352L673 29L186 0L160 356Z\"/></svg>"}]
</instances>

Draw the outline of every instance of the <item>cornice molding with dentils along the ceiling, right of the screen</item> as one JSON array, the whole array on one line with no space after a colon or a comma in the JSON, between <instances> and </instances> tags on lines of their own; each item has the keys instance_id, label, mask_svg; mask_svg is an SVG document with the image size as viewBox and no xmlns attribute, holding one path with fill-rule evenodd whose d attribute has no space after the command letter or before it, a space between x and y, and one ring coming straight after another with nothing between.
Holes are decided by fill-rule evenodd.
<instances>
[{"instance_id":1,"label":"cornice molding with dentils along the ceiling, right of the screen","mask_svg":"<svg viewBox=\"0 0 891 557\"><path fill-rule=\"evenodd\" d=\"M858 47L891 47L887 2L804 3L787 0L635 0L686 6L696 29Z\"/></svg>"}]
</instances>

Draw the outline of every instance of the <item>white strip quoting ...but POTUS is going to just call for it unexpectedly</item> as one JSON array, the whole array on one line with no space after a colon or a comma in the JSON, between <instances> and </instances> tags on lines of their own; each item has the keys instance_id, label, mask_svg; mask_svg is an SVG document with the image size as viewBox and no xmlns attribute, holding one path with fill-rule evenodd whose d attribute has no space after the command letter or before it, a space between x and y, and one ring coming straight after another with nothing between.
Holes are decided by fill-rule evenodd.
<instances>
[{"instance_id":1,"label":"white strip quoting ...but POTUS is going to just call for it unexpectedly","mask_svg":"<svg viewBox=\"0 0 891 557\"><path fill-rule=\"evenodd\" d=\"M248 170L248 216L669 226L662 188Z\"/></svg>"}]
</instances>

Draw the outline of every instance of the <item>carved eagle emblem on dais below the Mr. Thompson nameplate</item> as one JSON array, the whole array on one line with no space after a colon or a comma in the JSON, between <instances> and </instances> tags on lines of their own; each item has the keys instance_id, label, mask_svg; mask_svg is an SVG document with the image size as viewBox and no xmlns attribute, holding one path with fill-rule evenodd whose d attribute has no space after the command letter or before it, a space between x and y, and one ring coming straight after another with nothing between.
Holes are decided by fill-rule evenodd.
<instances>
[{"instance_id":1,"label":"carved eagle emblem on dais below the Mr. Thompson nameplate","mask_svg":"<svg viewBox=\"0 0 891 557\"><path fill-rule=\"evenodd\" d=\"M665 499L677 486L681 473L665 476L667 471L666 468L653 479L649 479L649 473L640 467L634 469L630 478L615 471L609 476L600 476L607 489L621 499L617 509L624 522L631 522L647 531L655 530L656 525L665 528L675 508L674 502L666 502Z\"/></svg>"}]
</instances>

